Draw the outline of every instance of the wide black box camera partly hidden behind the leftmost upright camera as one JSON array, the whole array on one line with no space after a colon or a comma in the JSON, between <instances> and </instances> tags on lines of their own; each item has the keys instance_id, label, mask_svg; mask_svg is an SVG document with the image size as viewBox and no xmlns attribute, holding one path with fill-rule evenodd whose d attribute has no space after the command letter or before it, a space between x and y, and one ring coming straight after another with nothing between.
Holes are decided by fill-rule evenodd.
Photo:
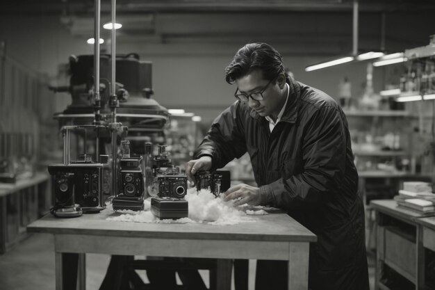
<instances>
[{"instance_id":1,"label":"wide black box camera partly hidden behind the leftmost upright camera","mask_svg":"<svg viewBox=\"0 0 435 290\"><path fill-rule=\"evenodd\" d=\"M101 162L93 162L85 156L83 160L70 164L53 164L48 166L49 173L58 176L72 174L74 180L74 201L83 209L83 213L97 213L104 209L103 175L108 170L108 156L101 155Z\"/></svg>"}]
</instances>

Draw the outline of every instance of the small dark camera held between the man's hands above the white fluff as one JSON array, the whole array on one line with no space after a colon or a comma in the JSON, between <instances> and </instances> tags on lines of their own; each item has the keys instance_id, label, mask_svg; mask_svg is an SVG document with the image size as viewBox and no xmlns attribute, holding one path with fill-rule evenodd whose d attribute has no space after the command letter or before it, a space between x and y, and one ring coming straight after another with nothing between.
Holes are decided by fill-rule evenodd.
<instances>
[{"instance_id":1,"label":"small dark camera held between the man's hands above the white fluff","mask_svg":"<svg viewBox=\"0 0 435 290\"><path fill-rule=\"evenodd\" d=\"M231 183L228 170L199 171L195 177L197 179L197 191L208 189L215 197L227 191Z\"/></svg>"}]
</instances>

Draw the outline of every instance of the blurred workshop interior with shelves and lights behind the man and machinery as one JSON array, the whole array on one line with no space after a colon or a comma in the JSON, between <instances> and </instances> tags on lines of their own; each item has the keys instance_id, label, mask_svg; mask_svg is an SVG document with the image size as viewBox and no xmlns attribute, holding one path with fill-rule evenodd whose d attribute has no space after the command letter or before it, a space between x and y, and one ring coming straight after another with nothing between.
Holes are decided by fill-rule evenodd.
<instances>
[{"instance_id":1,"label":"blurred workshop interior with shelves and lights behind the man and machinery","mask_svg":"<svg viewBox=\"0 0 435 290\"><path fill-rule=\"evenodd\" d=\"M152 98L165 108L185 112L175 113L167 128L172 142L181 137L180 132L190 142L186 154L179 149L180 161L188 160L214 118L234 102L235 86L225 82L224 68L246 43L268 42L281 53L297 81L327 92L337 102L345 99L340 104L350 124L366 203L370 286L375 289L377 243L370 200L392 200L403 182L432 182L434 177L435 101L420 97L417 102L397 102L411 92L435 94L435 61L427 53L435 54L434 1L118 0L116 12L122 24L117 30L117 54L135 53L141 61L150 61ZM106 22L110 22L110 1L101 0L101 23ZM90 0L0 3L0 161L8 160L8 166L0 164L0 174L8 173L13 156L17 180L36 178L31 187L17 188L16 196L1 198L6 234L0 248L0 289L54 289L51 236L30 235L26 225L47 214L52 205L50 186L39 174L47 173L47 164L62 160L54 114L71 104L71 95L49 87L68 85L70 56L93 54L93 45L87 43L93 25L94 1ZM110 54L110 31L101 29L101 38L101 53ZM373 65L381 57L355 58L305 70L368 51L406 54L412 49L423 55L392 65ZM390 89L400 91L384 92ZM192 116L199 118L192 120ZM228 168L231 178L254 182L247 156ZM24 192L32 198L26 200ZM95 272L88 274L88 287L95 289L108 257L91 256L88 263ZM403 274L400 266L391 268L406 280L416 275ZM395 274L388 279L403 278ZM413 287L415 283L409 289Z\"/></svg>"}]
</instances>

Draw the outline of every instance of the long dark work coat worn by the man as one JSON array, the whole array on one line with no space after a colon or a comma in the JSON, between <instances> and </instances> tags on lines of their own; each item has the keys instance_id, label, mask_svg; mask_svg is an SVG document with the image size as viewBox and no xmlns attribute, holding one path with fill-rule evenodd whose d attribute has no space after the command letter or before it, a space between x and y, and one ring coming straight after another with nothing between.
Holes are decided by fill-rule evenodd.
<instances>
[{"instance_id":1,"label":"long dark work coat worn by the man","mask_svg":"<svg viewBox=\"0 0 435 290\"><path fill-rule=\"evenodd\" d=\"M215 119L195 156L212 156L217 169L248 152L261 205L284 209L318 236L310 246L309 287L366 290L363 204L345 114L325 92L294 80L289 86L272 133L265 118L235 102Z\"/></svg>"}]
</instances>

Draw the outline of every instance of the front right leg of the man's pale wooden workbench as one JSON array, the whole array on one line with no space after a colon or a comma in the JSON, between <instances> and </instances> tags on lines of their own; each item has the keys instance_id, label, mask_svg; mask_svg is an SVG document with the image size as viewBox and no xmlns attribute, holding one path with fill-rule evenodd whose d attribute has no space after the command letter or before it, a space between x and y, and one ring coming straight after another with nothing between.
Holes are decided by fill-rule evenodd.
<instances>
[{"instance_id":1,"label":"front right leg of the man's pale wooden workbench","mask_svg":"<svg viewBox=\"0 0 435 290\"><path fill-rule=\"evenodd\" d=\"M288 290L308 289L309 243L288 243Z\"/></svg>"}]
</instances>

